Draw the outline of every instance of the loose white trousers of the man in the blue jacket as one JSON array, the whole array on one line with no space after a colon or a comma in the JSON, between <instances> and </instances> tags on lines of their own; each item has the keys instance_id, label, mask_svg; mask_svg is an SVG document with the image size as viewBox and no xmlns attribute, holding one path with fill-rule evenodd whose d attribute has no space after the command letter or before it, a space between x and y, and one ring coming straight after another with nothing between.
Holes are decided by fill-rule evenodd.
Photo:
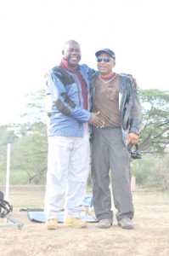
<instances>
[{"instance_id":1,"label":"loose white trousers of the man in the blue jacket","mask_svg":"<svg viewBox=\"0 0 169 256\"><path fill-rule=\"evenodd\" d=\"M65 215L80 218L89 170L89 132L84 137L48 137L48 172L44 211L46 218Z\"/></svg>"}]
</instances>

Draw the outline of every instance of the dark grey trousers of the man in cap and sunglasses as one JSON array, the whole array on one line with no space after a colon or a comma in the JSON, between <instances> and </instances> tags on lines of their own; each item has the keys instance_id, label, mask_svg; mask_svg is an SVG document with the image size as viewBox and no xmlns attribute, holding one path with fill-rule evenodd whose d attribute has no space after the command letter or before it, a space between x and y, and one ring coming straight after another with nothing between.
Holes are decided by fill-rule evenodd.
<instances>
[{"instance_id":1,"label":"dark grey trousers of the man in cap and sunglasses","mask_svg":"<svg viewBox=\"0 0 169 256\"><path fill-rule=\"evenodd\" d=\"M129 153L122 142L121 128L93 127L93 207L96 217L113 218L110 181L116 219L133 218Z\"/></svg>"}]
</instances>

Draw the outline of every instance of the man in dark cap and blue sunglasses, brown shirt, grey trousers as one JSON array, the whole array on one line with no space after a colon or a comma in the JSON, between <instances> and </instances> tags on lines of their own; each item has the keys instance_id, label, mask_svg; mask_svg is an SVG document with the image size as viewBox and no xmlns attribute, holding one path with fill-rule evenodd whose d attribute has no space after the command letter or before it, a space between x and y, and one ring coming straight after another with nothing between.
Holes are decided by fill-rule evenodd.
<instances>
[{"instance_id":1,"label":"man in dark cap and blue sunglasses, brown shirt, grey trousers","mask_svg":"<svg viewBox=\"0 0 169 256\"><path fill-rule=\"evenodd\" d=\"M92 133L94 211L99 228L112 225L111 179L117 224L132 229L134 209L127 146L138 143L141 106L133 79L113 71L115 53L101 49L95 55L99 76L93 81L93 112L99 112L104 126L93 126Z\"/></svg>"}]
</instances>

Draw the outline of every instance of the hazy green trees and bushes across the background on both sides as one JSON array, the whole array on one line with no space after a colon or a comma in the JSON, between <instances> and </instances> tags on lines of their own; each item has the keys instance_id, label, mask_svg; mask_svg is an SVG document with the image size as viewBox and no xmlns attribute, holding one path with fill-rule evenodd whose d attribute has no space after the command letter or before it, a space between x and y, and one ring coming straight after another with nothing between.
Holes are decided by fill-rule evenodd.
<instances>
[{"instance_id":1,"label":"hazy green trees and bushes across the background on both sides","mask_svg":"<svg viewBox=\"0 0 169 256\"><path fill-rule=\"evenodd\" d=\"M23 124L30 120L29 131L20 128L21 136L0 126L0 184L4 183L7 144L11 144L11 183L45 183L47 172L48 116L45 91L31 93ZM132 173L140 185L155 185L169 189L169 91L140 90L143 119L139 136L141 160L132 160Z\"/></svg>"}]
</instances>

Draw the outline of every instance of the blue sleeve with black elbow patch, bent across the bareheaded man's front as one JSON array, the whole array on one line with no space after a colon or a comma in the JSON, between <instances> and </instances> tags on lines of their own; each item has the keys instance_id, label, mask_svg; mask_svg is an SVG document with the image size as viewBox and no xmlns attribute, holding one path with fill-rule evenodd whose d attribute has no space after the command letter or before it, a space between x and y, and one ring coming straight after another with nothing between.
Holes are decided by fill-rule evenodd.
<instances>
[{"instance_id":1,"label":"blue sleeve with black elbow patch, bent across the bareheaded man's front","mask_svg":"<svg viewBox=\"0 0 169 256\"><path fill-rule=\"evenodd\" d=\"M57 78L53 70L48 73L47 85L52 101L60 113L71 116L83 123L90 119L91 113L71 101L65 90L65 85Z\"/></svg>"}]
</instances>

